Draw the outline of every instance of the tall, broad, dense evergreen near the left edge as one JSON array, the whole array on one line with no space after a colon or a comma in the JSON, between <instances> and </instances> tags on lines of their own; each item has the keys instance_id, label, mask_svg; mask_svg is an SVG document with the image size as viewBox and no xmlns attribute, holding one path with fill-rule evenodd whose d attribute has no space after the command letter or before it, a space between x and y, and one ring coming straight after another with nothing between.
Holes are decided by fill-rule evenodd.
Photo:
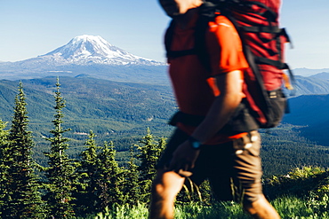
<instances>
[{"instance_id":1,"label":"tall, broad, dense evergreen near the left edge","mask_svg":"<svg viewBox=\"0 0 329 219\"><path fill-rule=\"evenodd\" d=\"M5 192L3 218L44 218L40 185L35 175L36 163L32 159L34 143L28 131L25 99L20 82L8 145L4 144L2 150L5 157L1 164L4 168L2 189Z\"/></svg>"}]
</instances>

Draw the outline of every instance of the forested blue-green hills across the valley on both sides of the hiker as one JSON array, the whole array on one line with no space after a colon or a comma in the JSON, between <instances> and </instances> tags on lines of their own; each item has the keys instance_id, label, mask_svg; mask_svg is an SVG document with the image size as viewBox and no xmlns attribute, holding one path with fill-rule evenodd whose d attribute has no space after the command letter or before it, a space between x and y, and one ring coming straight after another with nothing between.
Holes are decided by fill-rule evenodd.
<instances>
[{"instance_id":1,"label":"forested blue-green hills across the valley on both sides of the hiker","mask_svg":"<svg viewBox=\"0 0 329 219\"><path fill-rule=\"evenodd\" d=\"M29 129L36 141L35 156L43 160L42 153L49 146L44 137L48 137L52 129L56 78L22 82L28 103ZM170 136L173 128L166 121L175 112L176 105L169 85L111 82L86 75L60 77L60 84L61 95L67 101L63 126L72 129L67 134L72 139L69 151L73 155L84 147L90 129L97 134L98 144L114 141L119 160L125 159L129 147L138 143L148 127L156 137ZM3 121L11 121L18 85L18 81L0 81ZM329 120L328 98L329 95L291 98L292 113L285 115L283 124L261 130L265 176L285 174L303 165L329 166L326 129L317 129L326 127L325 121ZM314 116L309 112L314 112ZM312 136L313 132L317 135Z\"/></svg>"}]
</instances>

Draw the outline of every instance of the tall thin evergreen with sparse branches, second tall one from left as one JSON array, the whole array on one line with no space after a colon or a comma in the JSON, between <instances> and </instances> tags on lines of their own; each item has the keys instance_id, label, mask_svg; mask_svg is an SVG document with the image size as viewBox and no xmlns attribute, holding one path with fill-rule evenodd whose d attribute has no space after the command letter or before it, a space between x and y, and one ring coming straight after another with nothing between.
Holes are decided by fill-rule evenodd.
<instances>
[{"instance_id":1,"label":"tall thin evergreen with sparse branches, second tall one from left","mask_svg":"<svg viewBox=\"0 0 329 219\"><path fill-rule=\"evenodd\" d=\"M50 132L52 137L47 138L51 142L51 152L45 153L48 157L49 167L45 170L45 176L47 177L46 190L48 207L50 210L50 216L53 218L74 218L74 210L71 204L75 167L73 160L68 158L66 151L68 150L67 137L63 137L63 134L70 129L63 129L63 117L62 109L65 107L65 100L60 95L60 82L57 79L56 91L55 91L54 109L56 114L54 115L54 129Z\"/></svg>"}]
</instances>

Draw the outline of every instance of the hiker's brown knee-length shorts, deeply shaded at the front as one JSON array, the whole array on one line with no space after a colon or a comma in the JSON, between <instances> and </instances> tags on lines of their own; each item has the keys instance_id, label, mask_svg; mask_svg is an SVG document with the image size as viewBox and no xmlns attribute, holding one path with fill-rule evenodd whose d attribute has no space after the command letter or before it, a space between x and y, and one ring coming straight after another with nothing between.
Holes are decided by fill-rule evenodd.
<instances>
[{"instance_id":1,"label":"hiker's brown knee-length shorts, deeply shaded at the front","mask_svg":"<svg viewBox=\"0 0 329 219\"><path fill-rule=\"evenodd\" d=\"M188 137L176 129L156 168L165 169L174 150ZM197 185L209 179L218 200L253 202L262 194L260 148L257 131L221 145L203 145L190 179Z\"/></svg>"}]
</instances>

